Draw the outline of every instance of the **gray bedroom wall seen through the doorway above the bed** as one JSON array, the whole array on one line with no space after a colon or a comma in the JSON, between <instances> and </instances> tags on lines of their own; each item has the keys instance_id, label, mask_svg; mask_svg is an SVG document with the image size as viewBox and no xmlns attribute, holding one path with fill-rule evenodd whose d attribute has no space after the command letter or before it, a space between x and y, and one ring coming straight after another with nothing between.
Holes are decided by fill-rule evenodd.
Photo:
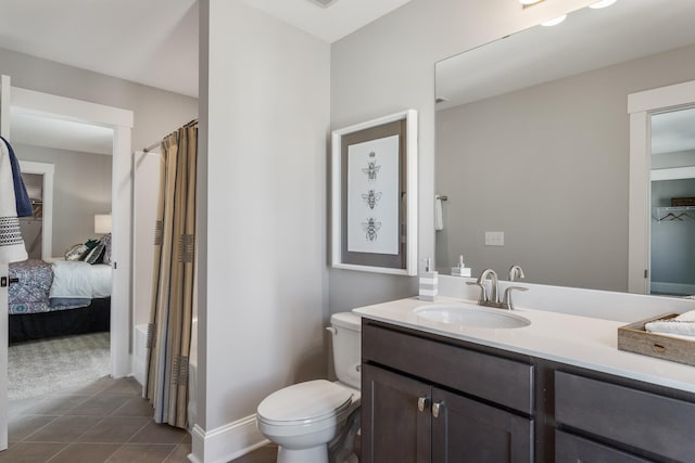
<instances>
[{"instance_id":1,"label":"gray bedroom wall seen through the doorway above the bed","mask_svg":"<svg viewBox=\"0 0 695 463\"><path fill-rule=\"evenodd\" d=\"M17 158L52 164L53 256L94 239L94 214L111 213L112 156L26 144L13 145Z\"/></svg>"}]
</instances>

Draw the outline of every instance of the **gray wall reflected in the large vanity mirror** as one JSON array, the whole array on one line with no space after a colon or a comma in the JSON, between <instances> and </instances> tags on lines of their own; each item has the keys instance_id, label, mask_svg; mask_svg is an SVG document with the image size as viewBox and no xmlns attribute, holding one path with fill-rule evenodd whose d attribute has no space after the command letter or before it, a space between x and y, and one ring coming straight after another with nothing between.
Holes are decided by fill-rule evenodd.
<instances>
[{"instance_id":1,"label":"gray wall reflected in the large vanity mirror","mask_svg":"<svg viewBox=\"0 0 695 463\"><path fill-rule=\"evenodd\" d=\"M687 47L439 112L440 271L463 254L473 274L520 263L530 282L627 291L628 94L694 75Z\"/></svg>"}]
</instances>

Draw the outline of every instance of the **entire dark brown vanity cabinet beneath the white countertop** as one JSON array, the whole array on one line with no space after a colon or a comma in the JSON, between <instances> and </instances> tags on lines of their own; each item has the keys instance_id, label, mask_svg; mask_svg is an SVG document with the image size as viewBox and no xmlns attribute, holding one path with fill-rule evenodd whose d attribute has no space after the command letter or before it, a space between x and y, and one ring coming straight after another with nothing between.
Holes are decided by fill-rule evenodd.
<instances>
[{"instance_id":1,"label":"entire dark brown vanity cabinet beneath the white countertop","mask_svg":"<svg viewBox=\"0 0 695 463\"><path fill-rule=\"evenodd\" d=\"M362 463L695 462L695 394L363 318Z\"/></svg>"}]
</instances>

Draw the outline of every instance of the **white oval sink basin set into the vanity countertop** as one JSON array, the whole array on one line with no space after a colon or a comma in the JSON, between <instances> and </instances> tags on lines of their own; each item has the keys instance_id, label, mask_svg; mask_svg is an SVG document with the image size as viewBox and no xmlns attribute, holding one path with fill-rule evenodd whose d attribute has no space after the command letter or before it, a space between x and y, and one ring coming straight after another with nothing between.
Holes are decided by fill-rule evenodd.
<instances>
[{"instance_id":1,"label":"white oval sink basin set into the vanity countertop","mask_svg":"<svg viewBox=\"0 0 695 463\"><path fill-rule=\"evenodd\" d=\"M523 327L531 322L503 309L489 309L475 304L431 305L414 310L418 319L442 323L451 327Z\"/></svg>"}]
</instances>

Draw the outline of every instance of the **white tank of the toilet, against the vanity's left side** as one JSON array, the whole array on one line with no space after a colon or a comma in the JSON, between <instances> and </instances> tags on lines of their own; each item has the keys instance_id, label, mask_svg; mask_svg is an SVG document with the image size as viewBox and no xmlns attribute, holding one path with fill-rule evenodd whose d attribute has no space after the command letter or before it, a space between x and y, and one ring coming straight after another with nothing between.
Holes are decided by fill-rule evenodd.
<instances>
[{"instance_id":1,"label":"white tank of the toilet, against the vanity's left side","mask_svg":"<svg viewBox=\"0 0 695 463\"><path fill-rule=\"evenodd\" d=\"M333 313L329 330L333 339L333 364L338 381L355 389L361 387L362 319L352 312Z\"/></svg>"}]
</instances>

